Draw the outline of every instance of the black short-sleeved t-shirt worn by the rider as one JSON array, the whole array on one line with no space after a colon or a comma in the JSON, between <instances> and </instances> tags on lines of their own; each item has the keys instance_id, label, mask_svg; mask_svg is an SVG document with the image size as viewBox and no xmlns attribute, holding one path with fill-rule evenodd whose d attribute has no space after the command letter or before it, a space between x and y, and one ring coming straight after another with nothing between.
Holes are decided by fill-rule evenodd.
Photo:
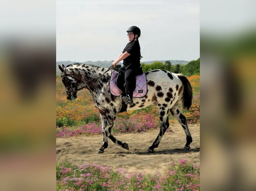
<instances>
[{"instance_id":1,"label":"black short-sleeved t-shirt worn by the rider","mask_svg":"<svg viewBox=\"0 0 256 191\"><path fill-rule=\"evenodd\" d=\"M129 42L124 50L123 53L128 52L130 56L124 59L123 65L125 68L139 68L140 67L140 44L139 41ZM130 68L129 67L129 68Z\"/></svg>"}]
</instances>

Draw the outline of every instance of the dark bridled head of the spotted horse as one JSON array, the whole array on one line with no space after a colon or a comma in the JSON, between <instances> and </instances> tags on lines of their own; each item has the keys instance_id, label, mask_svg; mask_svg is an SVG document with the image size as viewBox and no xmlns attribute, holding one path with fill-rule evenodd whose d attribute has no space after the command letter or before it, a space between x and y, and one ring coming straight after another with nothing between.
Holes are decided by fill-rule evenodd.
<instances>
[{"instance_id":1,"label":"dark bridled head of the spotted horse","mask_svg":"<svg viewBox=\"0 0 256 191\"><path fill-rule=\"evenodd\" d=\"M74 78L74 76L66 73L66 67L64 65L62 65L62 67L59 66L59 70L61 71L61 80L65 86L67 99L73 100L77 98L77 92L78 92L77 80Z\"/></svg>"}]
</instances>

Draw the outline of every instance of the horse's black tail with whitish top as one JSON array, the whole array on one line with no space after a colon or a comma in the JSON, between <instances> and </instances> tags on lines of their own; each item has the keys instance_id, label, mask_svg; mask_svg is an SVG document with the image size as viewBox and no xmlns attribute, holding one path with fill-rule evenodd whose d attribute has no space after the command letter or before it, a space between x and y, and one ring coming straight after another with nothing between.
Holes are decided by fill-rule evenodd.
<instances>
[{"instance_id":1,"label":"horse's black tail with whitish top","mask_svg":"<svg viewBox=\"0 0 256 191\"><path fill-rule=\"evenodd\" d=\"M183 92L181 97L182 105L183 105L183 108L188 110L192 104L192 98L193 98L192 87L185 75L183 74L177 74L177 75L183 84Z\"/></svg>"}]
</instances>

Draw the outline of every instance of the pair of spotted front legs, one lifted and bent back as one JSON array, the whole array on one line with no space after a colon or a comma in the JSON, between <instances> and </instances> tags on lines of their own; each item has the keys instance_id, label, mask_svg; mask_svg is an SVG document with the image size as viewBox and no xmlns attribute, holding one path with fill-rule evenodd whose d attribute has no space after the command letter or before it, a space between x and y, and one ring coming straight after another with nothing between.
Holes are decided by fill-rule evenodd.
<instances>
[{"instance_id":1,"label":"pair of spotted front legs, one lifted and bent back","mask_svg":"<svg viewBox=\"0 0 256 191\"><path fill-rule=\"evenodd\" d=\"M104 149L108 147L108 138L110 138L117 146L129 150L129 146L127 143L122 143L111 134L111 129L114 125L114 117L110 117L110 115L101 115L101 122L103 131L103 144L101 148L99 148L98 153L103 153Z\"/></svg>"}]
</instances>

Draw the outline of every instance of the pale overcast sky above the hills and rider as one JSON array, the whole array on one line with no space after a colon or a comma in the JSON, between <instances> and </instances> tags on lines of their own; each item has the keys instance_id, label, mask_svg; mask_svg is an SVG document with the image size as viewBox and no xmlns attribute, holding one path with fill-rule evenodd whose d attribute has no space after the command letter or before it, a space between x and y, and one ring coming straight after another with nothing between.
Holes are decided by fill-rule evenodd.
<instances>
[{"instance_id":1,"label":"pale overcast sky above the hills and rider","mask_svg":"<svg viewBox=\"0 0 256 191\"><path fill-rule=\"evenodd\" d=\"M200 58L199 0L57 0L56 61L115 60L137 26L141 62Z\"/></svg>"}]
</instances>

